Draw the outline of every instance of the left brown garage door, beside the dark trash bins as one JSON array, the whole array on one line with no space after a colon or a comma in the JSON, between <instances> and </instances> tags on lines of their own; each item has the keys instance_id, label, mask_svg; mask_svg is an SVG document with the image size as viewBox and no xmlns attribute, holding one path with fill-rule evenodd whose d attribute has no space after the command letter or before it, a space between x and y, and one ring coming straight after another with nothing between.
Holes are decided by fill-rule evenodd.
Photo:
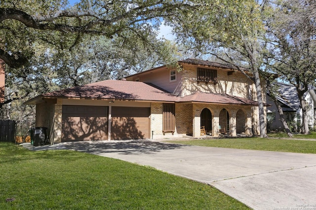
<instances>
[{"instance_id":1,"label":"left brown garage door, beside the dark trash bins","mask_svg":"<svg viewBox=\"0 0 316 210\"><path fill-rule=\"evenodd\" d=\"M108 140L108 106L63 105L62 141Z\"/></svg>"}]
</instances>

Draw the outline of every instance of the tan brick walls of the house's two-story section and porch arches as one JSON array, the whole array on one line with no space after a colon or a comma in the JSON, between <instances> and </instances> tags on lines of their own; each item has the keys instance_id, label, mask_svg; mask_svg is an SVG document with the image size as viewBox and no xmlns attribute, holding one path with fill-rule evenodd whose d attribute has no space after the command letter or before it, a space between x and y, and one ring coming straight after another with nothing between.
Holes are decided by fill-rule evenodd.
<instances>
[{"instance_id":1,"label":"tan brick walls of the house's two-story section and porch arches","mask_svg":"<svg viewBox=\"0 0 316 210\"><path fill-rule=\"evenodd\" d=\"M253 82L239 71L235 71L232 75L228 75L227 71L218 69L218 83L210 82L206 84L205 82L197 82L197 66L184 65L181 71L182 87L179 96L184 97L200 91L228 94L257 101ZM265 88L263 88L264 91ZM263 96L265 101L265 94ZM219 135L219 125L221 125L221 128L225 128L231 136L241 133L247 136L251 136L253 133L255 135L260 134L257 107L207 104L176 104L176 133L178 135L200 137L200 114L203 108L208 108L212 113L212 135L215 137ZM229 113L229 124L227 124L227 114L223 111L223 108ZM151 117L151 129L154 131L154 136L161 135L162 103L152 103Z\"/></svg>"}]
</instances>

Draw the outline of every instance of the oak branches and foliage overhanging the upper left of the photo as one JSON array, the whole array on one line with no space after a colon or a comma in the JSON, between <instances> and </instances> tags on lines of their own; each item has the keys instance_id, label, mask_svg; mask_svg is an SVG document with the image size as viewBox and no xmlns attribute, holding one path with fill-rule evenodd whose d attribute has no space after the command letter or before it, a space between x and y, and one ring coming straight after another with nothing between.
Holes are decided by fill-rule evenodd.
<instances>
[{"instance_id":1,"label":"oak branches and foliage overhanging the upper left of the photo","mask_svg":"<svg viewBox=\"0 0 316 210\"><path fill-rule=\"evenodd\" d=\"M0 59L19 68L34 56L35 42L59 42L60 49L72 50L83 35L150 43L161 18L179 18L192 9L182 0L81 0L75 5L67 0L0 0Z\"/></svg>"}]
</instances>

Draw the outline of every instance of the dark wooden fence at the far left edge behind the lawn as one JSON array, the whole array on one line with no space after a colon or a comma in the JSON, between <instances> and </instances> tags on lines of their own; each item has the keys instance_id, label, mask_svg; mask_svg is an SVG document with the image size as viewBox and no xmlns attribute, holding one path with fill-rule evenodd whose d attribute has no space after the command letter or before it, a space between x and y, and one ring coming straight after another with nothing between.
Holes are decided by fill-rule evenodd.
<instances>
[{"instance_id":1,"label":"dark wooden fence at the far left edge behind the lawn","mask_svg":"<svg viewBox=\"0 0 316 210\"><path fill-rule=\"evenodd\" d=\"M15 143L15 130L14 120L0 120L0 141Z\"/></svg>"}]
</instances>

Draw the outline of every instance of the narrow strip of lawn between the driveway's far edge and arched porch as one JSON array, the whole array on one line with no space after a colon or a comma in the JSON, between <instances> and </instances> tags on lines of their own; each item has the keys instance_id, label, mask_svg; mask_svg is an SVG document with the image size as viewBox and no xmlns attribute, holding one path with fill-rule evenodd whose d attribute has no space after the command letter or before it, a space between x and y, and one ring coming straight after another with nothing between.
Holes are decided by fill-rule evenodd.
<instances>
[{"instance_id":1,"label":"narrow strip of lawn between the driveway's far edge and arched porch","mask_svg":"<svg viewBox=\"0 0 316 210\"><path fill-rule=\"evenodd\" d=\"M314 135L314 134L313 134ZM304 135L302 135L304 136ZM279 137L281 138L281 137ZM235 138L235 139L207 139L207 140L166 140L167 142L181 143L196 146L211 146L236 149L254 149L265 151L298 152L316 154L316 141L264 139L264 138Z\"/></svg>"}]
</instances>

